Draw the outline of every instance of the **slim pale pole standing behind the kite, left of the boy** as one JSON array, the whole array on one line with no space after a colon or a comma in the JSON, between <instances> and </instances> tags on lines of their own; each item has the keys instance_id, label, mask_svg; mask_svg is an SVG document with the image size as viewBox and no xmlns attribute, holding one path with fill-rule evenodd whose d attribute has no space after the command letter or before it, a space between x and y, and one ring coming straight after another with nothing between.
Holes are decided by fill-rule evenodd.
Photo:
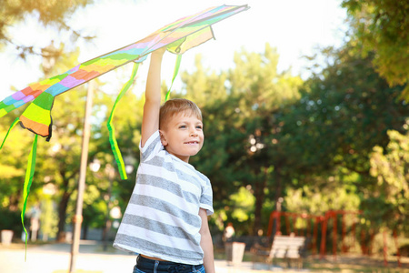
<instances>
[{"instance_id":1,"label":"slim pale pole standing behind the kite, left of the boy","mask_svg":"<svg viewBox=\"0 0 409 273\"><path fill-rule=\"evenodd\" d=\"M83 199L85 190L85 174L88 161L88 144L90 136L90 116L93 107L93 82L88 82L88 91L86 95L85 103L85 118L84 118L84 130L83 130L83 144L81 149L81 165L80 174L78 180L78 197L76 199L74 222L74 236L73 245L71 246L71 261L69 273L75 272L75 262L79 250L79 241L81 238L81 224L83 222Z\"/></svg>"}]
</instances>

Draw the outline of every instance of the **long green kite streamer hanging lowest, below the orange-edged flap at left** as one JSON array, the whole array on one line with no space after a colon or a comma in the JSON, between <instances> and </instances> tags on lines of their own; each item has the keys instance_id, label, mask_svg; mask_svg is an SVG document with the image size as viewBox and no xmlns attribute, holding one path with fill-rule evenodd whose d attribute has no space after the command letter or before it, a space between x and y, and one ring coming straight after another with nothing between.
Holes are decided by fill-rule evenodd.
<instances>
[{"instance_id":1,"label":"long green kite streamer hanging lowest, below the orange-edged flap at left","mask_svg":"<svg viewBox=\"0 0 409 273\"><path fill-rule=\"evenodd\" d=\"M27 170L25 172L25 186L24 186L24 194L23 199L25 203L23 204L23 210L21 211L21 223L23 224L23 228L25 229L25 208L27 207L27 199L28 195L30 194L30 187L33 183L33 177L35 174L35 157L37 154L37 137L38 135L35 134L35 140L33 142L33 147L30 151L30 156L28 156L27 162ZM28 233L25 229L25 261L27 260L27 240L28 240Z\"/></svg>"}]
</instances>

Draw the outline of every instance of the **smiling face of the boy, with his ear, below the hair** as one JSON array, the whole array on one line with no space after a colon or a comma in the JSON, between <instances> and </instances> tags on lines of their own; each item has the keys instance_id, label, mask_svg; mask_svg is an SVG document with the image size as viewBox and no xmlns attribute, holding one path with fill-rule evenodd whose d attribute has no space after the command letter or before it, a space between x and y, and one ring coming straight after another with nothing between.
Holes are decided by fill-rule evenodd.
<instances>
[{"instance_id":1,"label":"smiling face of the boy, with his ear, below the hair","mask_svg":"<svg viewBox=\"0 0 409 273\"><path fill-rule=\"evenodd\" d=\"M203 123L194 114L181 112L168 119L160 130L162 145L169 154L189 162L203 147Z\"/></svg>"}]
</instances>

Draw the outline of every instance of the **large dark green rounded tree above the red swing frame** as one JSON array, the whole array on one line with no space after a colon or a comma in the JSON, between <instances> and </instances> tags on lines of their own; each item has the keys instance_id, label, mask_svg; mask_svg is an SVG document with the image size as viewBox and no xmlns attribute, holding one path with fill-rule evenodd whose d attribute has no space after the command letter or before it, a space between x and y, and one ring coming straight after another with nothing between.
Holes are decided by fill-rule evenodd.
<instances>
[{"instance_id":1,"label":"large dark green rounded tree above the red swing frame","mask_svg":"<svg viewBox=\"0 0 409 273\"><path fill-rule=\"evenodd\" d=\"M307 81L281 119L281 143L297 151L292 164L299 168L320 173L339 166L369 177L372 148L385 147L387 130L402 130L408 115L398 99L404 87L390 87L375 72L373 56L357 56L350 45L325 54L332 64Z\"/></svg>"}]
</instances>

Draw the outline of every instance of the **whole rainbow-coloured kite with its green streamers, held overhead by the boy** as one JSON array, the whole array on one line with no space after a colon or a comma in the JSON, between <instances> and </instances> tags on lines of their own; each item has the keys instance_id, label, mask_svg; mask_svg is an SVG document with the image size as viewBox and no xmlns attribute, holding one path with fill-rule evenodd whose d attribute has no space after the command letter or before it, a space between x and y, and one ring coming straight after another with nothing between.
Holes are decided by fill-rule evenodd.
<instances>
[{"instance_id":1,"label":"whole rainbow-coloured kite with its green streamers, held overhead by the boy","mask_svg":"<svg viewBox=\"0 0 409 273\"><path fill-rule=\"evenodd\" d=\"M11 96L7 96L0 102L0 117L13 111L25 103L32 102L25 109L24 113L15 119L10 126L5 139L10 130L18 123L24 128L35 133L35 140L31 149L27 170L25 175L24 186L24 207L22 210L22 223L24 227L24 215L27 197L30 191L32 180L35 173L35 151L37 144L37 136L44 136L49 141L52 136L53 119L51 110L54 104L55 96L58 96L75 86L80 86L97 76L114 70L119 66L124 66L130 62L134 62L134 69L131 79L125 84L115 100L115 104L111 110L111 115L108 118L107 126L109 130L109 140L118 165L118 171L121 178L126 179L125 164L116 143L115 128L112 124L112 119L115 114L116 104L119 102L125 92L134 82L137 72L137 67L145 61L146 57L158 48L166 47L166 50L177 55L175 73L172 83L175 80L177 71L180 66L181 56L186 50L201 45L210 39L214 39L212 25L227 17L238 14L247 10L247 5L220 5L208 8L195 15L189 15L175 21L172 24L165 25L158 29L153 34L146 36L131 45L126 45L113 52L103 56L95 57L85 63L82 63L67 72L53 76L38 83L27 86ZM172 87L172 84L171 84ZM169 89L170 92L170 89ZM169 96L166 94L166 99ZM5 139L0 146L0 149L5 144ZM24 227L25 228L25 227ZM26 233L26 230L25 230ZM25 237L26 244L27 236Z\"/></svg>"}]
</instances>

